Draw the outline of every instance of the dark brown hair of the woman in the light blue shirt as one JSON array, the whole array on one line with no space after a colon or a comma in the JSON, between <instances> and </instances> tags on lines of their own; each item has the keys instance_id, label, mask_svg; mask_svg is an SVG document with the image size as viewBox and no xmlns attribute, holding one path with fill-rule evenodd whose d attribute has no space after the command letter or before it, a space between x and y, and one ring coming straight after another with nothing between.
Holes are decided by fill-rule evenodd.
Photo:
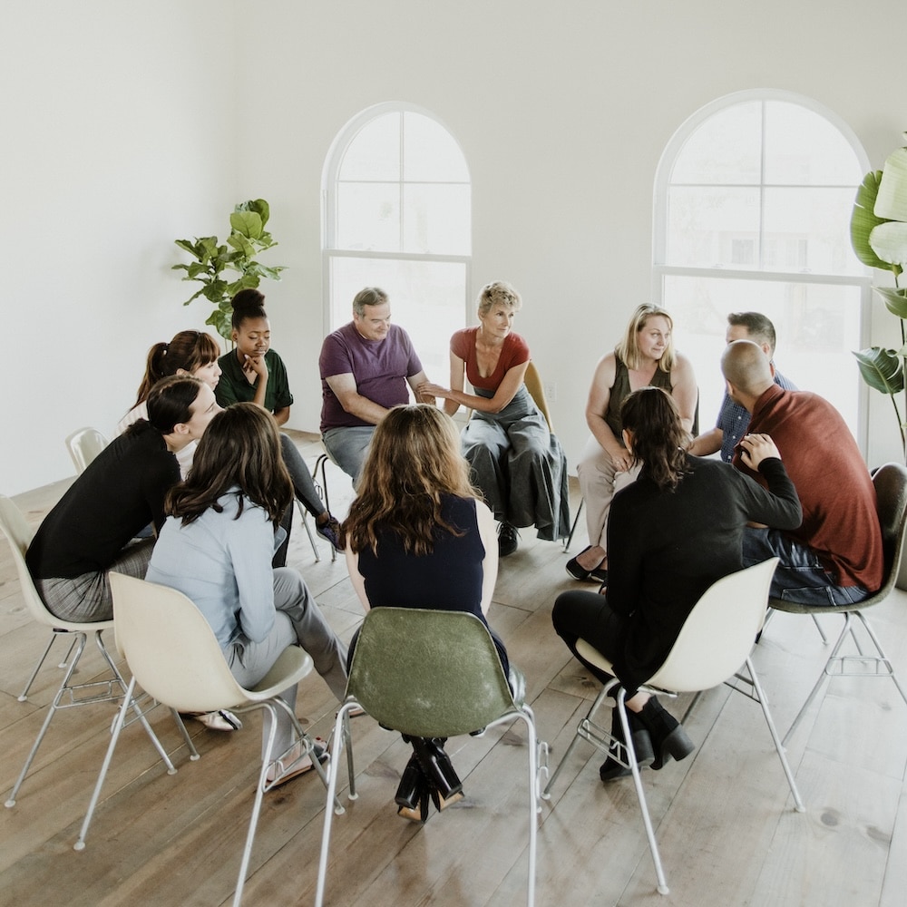
<instances>
[{"instance_id":1,"label":"dark brown hair of the woman in the light blue shirt","mask_svg":"<svg viewBox=\"0 0 907 907\"><path fill-rule=\"evenodd\" d=\"M205 429L185 482L171 488L165 510L182 524L198 520L211 508L223 512L219 497L239 489L243 502L257 504L277 527L293 502L293 483L280 453L274 416L254 403L237 403L222 410Z\"/></svg>"}]
</instances>

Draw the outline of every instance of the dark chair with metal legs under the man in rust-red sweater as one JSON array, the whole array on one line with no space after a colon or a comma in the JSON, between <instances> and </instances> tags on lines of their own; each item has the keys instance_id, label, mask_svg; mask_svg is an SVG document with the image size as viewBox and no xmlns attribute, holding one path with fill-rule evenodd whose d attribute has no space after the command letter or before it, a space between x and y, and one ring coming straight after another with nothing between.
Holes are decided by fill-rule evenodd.
<instances>
[{"instance_id":1,"label":"dark chair with metal legs under the man in rust-red sweater","mask_svg":"<svg viewBox=\"0 0 907 907\"><path fill-rule=\"evenodd\" d=\"M840 614L844 618L844 627L841 629L841 634L834 644L834 649L832 649L831 655L825 662L818 680L815 681L814 688L809 696L806 697L803 707L797 712L793 724L788 728L784 738L785 743L793 735L805 716L806 710L818 695L825 678L888 678L892 680L902 699L907 703L907 692L901 686L901 682L894 673L891 660L885 655L882 644L863 614L863 611L867 608L872 608L873 605L878 605L888 598L898 579L898 573L901 571L903 546L905 537L907 537L907 469L901 463L885 463L873 475L873 485L875 486L876 507L879 512L879 523L882 527L882 541L885 552L882 588L868 599L855 605L801 605L795 601L782 599L768 600L769 607L774 610L786 611L789 614L808 614L815 621L817 627L818 621L815 619L817 614ZM865 631L864 639L869 640L874 652L863 654L860 639L854 633L858 626L863 627ZM821 627L819 632L822 633ZM856 655L840 654L848 637L853 641L853 646L857 651ZM826 641L824 633L822 634L822 641Z\"/></svg>"}]
</instances>

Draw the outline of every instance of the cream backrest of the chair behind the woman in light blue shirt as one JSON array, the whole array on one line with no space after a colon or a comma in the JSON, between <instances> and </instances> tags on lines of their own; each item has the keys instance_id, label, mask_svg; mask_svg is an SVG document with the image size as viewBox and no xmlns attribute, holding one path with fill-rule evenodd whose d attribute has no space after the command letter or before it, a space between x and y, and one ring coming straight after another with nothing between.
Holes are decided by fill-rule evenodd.
<instances>
[{"instance_id":1,"label":"cream backrest of the chair behind the woman in light blue shirt","mask_svg":"<svg viewBox=\"0 0 907 907\"><path fill-rule=\"evenodd\" d=\"M117 646L146 693L180 712L213 712L247 699L190 599L167 586L109 575Z\"/></svg>"}]
</instances>

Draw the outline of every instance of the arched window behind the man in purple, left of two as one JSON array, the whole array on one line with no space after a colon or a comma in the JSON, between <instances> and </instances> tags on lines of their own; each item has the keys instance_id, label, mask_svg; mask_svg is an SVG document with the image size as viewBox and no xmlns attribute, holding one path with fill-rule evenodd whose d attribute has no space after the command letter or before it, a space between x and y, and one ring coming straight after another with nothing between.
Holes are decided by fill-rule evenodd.
<instances>
[{"instance_id":1,"label":"arched window behind the man in purple, left of two","mask_svg":"<svg viewBox=\"0 0 907 907\"><path fill-rule=\"evenodd\" d=\"M330 329L363 287L390 298L426 373L446 382L450 336L466 323L471 191L463 151L430 113L379 104L346 124L323 180Z\"/></svg>"}]
</instances>

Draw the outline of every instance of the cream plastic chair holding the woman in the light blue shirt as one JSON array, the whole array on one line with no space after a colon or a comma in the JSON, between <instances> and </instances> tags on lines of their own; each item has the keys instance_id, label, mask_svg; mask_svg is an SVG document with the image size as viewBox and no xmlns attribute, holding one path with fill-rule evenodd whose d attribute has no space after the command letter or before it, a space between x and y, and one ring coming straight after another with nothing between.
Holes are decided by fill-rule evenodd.
<instances>
[{"instance_id":1,"label":"cream plastic chair holding the woman in the light blue shirt","mask_svg":"<svg viewBox=\"0 0 907 907\"><path fill-rule=\"evenodd\" d=\"M314 748L311 737L299 727L293 709L279 697L283 690L306 677L312 669L312 659L298 646L289 646L280 654L256 688L240 687L236 678L230 674L227 661L210 624L186 596L167 586L137 580L122 573L112 572L110 579L117 645L132 671L127 696L132 696L132 691L138 684L148 695L180 712L214 712L221 708L229 709L231 712L248 712L260 708L268 711L271 716L270 734L261 770L258 772L249 833L246 836L246 846L242 853L239 878L233 896L234 905L239 905L246 873L249 870L249 857L258 825L258 814L261 811L262 796L273 785L268 781L268 768L272 766L274 759L287 755L273 752L279 710L283 710L290 717L297 736L304 742L306 750L304 756L311 754ZM101 774L98 776L88 812L85 814L79 839L73 845L75 850L82 850L85 846L85 835L88 834L88 827L92 823L94 808L101 794L121 730L122 714L113 726ZM317 774L327 785L327 777L321 764L314 757L312 762Z\"/></svg>"}]
</instances>

